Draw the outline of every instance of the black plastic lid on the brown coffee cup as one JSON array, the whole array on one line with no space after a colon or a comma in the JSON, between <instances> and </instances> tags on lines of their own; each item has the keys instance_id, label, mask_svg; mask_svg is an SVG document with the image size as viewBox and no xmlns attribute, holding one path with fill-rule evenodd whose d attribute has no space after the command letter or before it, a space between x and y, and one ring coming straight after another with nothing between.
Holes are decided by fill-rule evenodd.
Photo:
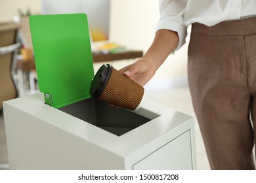
<instances>
[{"instance_id":1,"label":"black plastic lid on the brown coffee cup","mask_svg":"<svg viewBox=\"0 0 256 183\"><path fill-rule=\"evenodd\" d=\"M98 69L95 77L93 78L93 82L91 83L90 94L92 97L97 98L104 91L111 73L112 65L109 64L102 65L100 69Z\"/></svg>"}]
</instances>

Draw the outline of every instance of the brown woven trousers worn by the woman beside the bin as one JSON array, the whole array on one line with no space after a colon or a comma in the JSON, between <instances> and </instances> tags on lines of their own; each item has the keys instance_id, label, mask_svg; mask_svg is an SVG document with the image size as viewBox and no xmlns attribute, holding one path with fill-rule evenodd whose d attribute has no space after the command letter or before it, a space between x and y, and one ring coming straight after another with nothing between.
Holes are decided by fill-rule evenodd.
<instances>
[{"instance_id":1,"label":"brown woven trousers worn by the woman beside the bin","mask_svg":"<svg viewBox=\"0 0 256 183\"><path fill-rule=\"evenodd\" d=\"M211 169L255 169L256 18L192 24L188 82Z\"/></svg>"}]
</instances>

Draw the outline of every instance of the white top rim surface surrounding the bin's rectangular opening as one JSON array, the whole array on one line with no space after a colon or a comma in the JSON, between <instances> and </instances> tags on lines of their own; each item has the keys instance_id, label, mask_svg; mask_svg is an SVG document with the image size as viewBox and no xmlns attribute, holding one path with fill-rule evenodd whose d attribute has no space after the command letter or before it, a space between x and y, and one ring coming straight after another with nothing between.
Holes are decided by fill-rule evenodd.
<instances>
[{"instance_id":1,"label":"white top rim surface surrounding the bin's rectangular opening","mask_svg":"<svg viewBox=\"0 0 256 183\"><path fill-rule=\"evenodd\" d=\"M70 114L45 105L43 93L5 101L4 106L7 110L9 107L16 108L20 112L37 118L40 122L58 127L121 157L128 156L138 150L142 151L142 147L149 143L152 148L154 148L154 144L159 146L160 142L165 144L170 139L177 137L181 131L184 132L184 129L189 130L194 125L194 119L191 116L148 99L144 99L139 110L134 112L147 118L152 118L156 114L158 117L121 136L114 135Z\"/></svg>"}]
</instances>

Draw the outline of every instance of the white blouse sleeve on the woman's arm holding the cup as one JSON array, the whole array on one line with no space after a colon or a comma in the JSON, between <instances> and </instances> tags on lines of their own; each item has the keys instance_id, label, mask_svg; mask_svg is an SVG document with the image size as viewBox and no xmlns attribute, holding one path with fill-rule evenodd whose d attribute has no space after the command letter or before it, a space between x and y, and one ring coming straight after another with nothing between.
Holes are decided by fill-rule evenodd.
<instances>
[{"instance_id":1,"label":"white blouse sleeve on the woman's arm holding the cup","mask_svg":"<svg viewBox=\"0 0 256 183\"><path fill-rule=\"evenodd\" d=\"M160 20L156 31L169 29L179 35L179 44L175 50L179 50L186 42L187 27L184 25L183 16L188 0L160 0Z\"/></svg>"}]
</instances>

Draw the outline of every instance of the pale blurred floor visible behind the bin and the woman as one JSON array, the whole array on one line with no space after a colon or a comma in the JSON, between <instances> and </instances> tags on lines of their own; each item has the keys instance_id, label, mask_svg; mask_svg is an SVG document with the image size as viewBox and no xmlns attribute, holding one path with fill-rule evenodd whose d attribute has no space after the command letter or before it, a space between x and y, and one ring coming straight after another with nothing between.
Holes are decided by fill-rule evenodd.
<instances>
[{"instance_id":1,"label":"pale blurred floor visible behind the bin and the woman","mask_svg":"<svg viewBox=\"0 0 256 183\"><path fill-rule=\"evenodd\" d=\"M188 87L176 86L163 90L146 90L146 97L158 103L171 107L180 112L184 112L190 116L194 115L192 108L190 93ZM200 170L209 169L209 163L205 154L202 136L198 124L195 119L195 132L196 132L196 158L197 168ZM8 156L7 156L7 142L5 137L5 124L3 119L3 112L0 114L0 169L9 169Z\"/></svg>"}]
</instances>

